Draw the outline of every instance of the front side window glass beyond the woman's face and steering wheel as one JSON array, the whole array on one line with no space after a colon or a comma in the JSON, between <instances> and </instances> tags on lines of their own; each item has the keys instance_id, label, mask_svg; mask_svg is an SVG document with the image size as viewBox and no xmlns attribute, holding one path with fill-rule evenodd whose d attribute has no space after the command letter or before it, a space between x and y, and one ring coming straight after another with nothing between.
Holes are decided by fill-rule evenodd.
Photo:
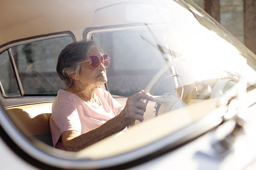
<instances>
[{"instance_id":1,"label":"front side window glass beyond the woman's face and steering wheel","mask_svg":"<svg viewBox=\"0 0 256 170\"><path fill-rule=\"evenodd\" d=\"M93 39L111 57L107 84L113 95L130 96L145 89L170 60L165 29L102 32L94 34ZM174 83L173 77L169 81Z\"/></svg>"}]
</instances>

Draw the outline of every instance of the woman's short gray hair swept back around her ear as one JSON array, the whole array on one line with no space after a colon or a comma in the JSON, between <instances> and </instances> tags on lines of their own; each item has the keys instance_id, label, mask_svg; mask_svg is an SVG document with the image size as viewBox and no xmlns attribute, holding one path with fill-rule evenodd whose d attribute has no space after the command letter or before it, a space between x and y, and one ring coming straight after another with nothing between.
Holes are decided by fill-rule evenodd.
<instances>
[{"instance_id":1,"label":"woman's short gray hair swept back around her ear","mask_svg":"<svg viewBox=\"0 0 256 170\"><path fill-rule=\"evenodd\" d=\"M58 56L56 71L67 87L72 86L72 77L79 75L81 65L78 63L86 59L91 48L97 46L95 41L80 41L67 45L61 51Z\"/></svg>"}]
</instances>

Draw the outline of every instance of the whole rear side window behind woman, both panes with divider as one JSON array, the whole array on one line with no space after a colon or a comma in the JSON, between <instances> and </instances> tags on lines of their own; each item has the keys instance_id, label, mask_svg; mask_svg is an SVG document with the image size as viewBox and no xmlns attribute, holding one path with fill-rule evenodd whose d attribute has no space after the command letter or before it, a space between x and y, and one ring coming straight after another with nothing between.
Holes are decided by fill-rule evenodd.
<instances>
[{"instance_id":1,"label":"whole rear side window behind woman, both panes with divider","mask_svg":"<svg viewBox=\"0 0 256 170\"><path fill-rule=\"evenodd\" d=\"M0 54L0 82L4 97L55 96L65 88L56 72L58 55L69 43L70 35L16 45ZM3 70L3 71L2 71Z\"/></svg>"}]
</instances>

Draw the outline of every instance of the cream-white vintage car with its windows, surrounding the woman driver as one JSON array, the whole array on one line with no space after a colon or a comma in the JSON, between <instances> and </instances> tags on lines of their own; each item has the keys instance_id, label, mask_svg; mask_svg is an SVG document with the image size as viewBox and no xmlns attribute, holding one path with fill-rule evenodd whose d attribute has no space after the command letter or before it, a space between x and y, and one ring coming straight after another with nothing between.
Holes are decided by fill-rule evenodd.
<instances>
[{"instance_id":1,"label":"cream-white vintage car with its windows, surrounding the woman driver","mask_svg":"<svg viewBox=\"0 0 256 170\"><path fill-rule=\"evenodd\" d=\"M256 55L192 1L8 0L0 14L1 168L256 168ZM136 91L153 91L144 117L157 118L77 153L53 149L15 111L51 113L64 85L55 73L60 51L50 47L93 38L113 57L101 88L123 105Z\"/></svg>"}]
</instances>

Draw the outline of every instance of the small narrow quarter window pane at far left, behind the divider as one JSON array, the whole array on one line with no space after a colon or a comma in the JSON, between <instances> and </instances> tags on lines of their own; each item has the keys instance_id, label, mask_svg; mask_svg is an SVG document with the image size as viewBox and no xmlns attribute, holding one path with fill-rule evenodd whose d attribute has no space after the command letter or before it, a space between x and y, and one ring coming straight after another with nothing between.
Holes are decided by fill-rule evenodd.
<instances>
[{"instance_id":1,"label":"small narrow quarter window pane at far left, behind the divider","mask_svg":"<svg viewBox=\"0 0 256 170\"><path fill-rule=\"evenodd\" d=\"M8 51L0 54L0 88L3 96L20 96Z\"/></svg>"}]
</instances>

